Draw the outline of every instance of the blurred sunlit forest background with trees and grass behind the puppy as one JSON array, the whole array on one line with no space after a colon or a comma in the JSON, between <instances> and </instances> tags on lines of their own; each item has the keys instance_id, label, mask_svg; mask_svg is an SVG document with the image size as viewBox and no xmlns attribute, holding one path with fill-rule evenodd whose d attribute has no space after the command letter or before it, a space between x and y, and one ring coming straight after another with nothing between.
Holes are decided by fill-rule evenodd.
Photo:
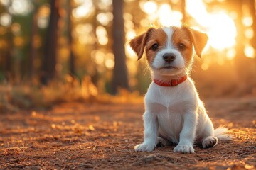
<instances>
[{"instance_id":1,"label":"blurred sunlit forest background with trees and grass behind the puppy","mask_svg":"<svg viewBox=\"0 0 256 170\"><path fill-rule=\"evenodd\" d=\"M181 23L209 36L192 72L203 98L256 96L254 0L0 0L0 111L140 98L151 80L129 40Z\"/></svg>"}]
</instances>

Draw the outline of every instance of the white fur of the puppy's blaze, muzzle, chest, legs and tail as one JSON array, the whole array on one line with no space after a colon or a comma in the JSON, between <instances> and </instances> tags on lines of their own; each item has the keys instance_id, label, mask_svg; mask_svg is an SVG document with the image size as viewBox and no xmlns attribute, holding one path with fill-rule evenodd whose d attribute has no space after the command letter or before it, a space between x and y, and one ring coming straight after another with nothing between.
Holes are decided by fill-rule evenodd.
<instances>
[{"instance_id":1,"label":"white fur of the puppy's blaze, muzzle, chest, legs and tail","mask_svg":"<svg viewBox=\"0 0 256 170\"><path fill-rule=\"evenodd\" d=\"M151 63L153 79L175 79L187 75L187 68L181 52L172 47L171 29L164 28L168 37L166 48L159 51ZM169 42L170 41L170 42ZM162 56L166 52L176 55L171 66L174 69L159 69L166 65ZM174 152L194 153L194 142L201 142L203 148L213 147L218 138L227 137L225 128L214 130L213 123L199 99L191 78L178 86L164 87L152 82L144 98L144 142L134 147L137 152L149 152L159 139L164 143L176 144Z\"/></svg>"}]
</instances>

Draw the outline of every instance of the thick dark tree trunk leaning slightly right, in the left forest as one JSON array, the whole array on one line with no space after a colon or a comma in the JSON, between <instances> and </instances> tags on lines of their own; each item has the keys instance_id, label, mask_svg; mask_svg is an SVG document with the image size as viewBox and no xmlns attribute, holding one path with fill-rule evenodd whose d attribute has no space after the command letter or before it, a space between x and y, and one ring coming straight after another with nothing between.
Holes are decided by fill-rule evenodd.
<instances>
[{"instance_id":1,"label":"thick dark tree trunk leaning slightly right, in the left forest","mask_svg":"<svg viewBox=\"0 0 256 170\"><path fill-rule=\"evenodd\" d=\"M58 13L60 8L58 0L50 1L50 21L48 33L46 35L46 53L43 59L41 83L47 84L50 79L55 77L56 52L58 42Z\"/></svg>"}]
</instances>

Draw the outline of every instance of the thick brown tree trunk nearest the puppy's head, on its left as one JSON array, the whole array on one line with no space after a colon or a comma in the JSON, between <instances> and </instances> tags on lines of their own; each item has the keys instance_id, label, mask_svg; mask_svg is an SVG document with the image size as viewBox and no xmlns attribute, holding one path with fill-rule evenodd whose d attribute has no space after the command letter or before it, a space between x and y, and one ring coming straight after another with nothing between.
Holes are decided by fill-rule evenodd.
<instances>
[{"instance_id":1,"label":"thick brown tree trunk nearest the puppy's head, on its left","mask_svg":"<svg viewBox=\"0 0 256 170\"><path fill-rule=\"evenodd\" d=\"M126 56L124 51L124 18L123 0L113 0L113 52L114 70L112 92L117 94L118 88L129 89Z\"/></svg>"}]
</instances>

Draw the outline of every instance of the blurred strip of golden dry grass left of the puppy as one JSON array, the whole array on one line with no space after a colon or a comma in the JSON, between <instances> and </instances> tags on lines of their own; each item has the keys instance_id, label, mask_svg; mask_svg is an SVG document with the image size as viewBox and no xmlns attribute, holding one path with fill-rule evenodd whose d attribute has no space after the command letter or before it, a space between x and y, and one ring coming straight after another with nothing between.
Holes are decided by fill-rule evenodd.
<instances>
[{"instance_id":1,"label":"blurred strip of golden dry grass left of the puppy","mask_svg":"<svg viewBox=\"0 0 256 170\"><path fill-rule=\"evenodd\" d=\"M117 96L101 93L92 84L90 77L82 81L66 76L63 80L53 80L47 86L38 82L0 84L0 112L16 112L23 109L50 108L63 102L97 103L141 103L138 91L130 93L119 89Z\"/></svg>"}]
</instances>

